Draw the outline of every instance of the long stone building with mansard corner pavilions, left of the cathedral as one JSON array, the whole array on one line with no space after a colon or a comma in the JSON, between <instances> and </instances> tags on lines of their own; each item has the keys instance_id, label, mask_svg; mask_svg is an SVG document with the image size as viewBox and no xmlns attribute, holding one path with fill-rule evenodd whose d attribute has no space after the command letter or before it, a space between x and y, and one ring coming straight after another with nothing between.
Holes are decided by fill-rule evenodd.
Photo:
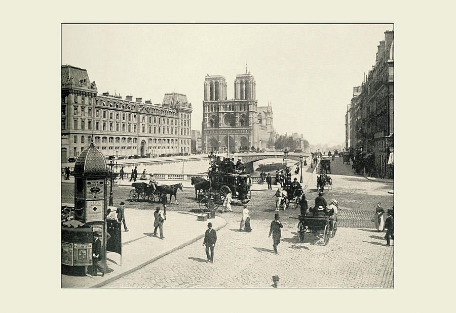
<instances>
[{"instance_id":1,"label":"long stone building with mansard corner pavilions, left of the cathedral","mask_svg":"<svg viewBox=\"0 0 456 313\"><path fill-rule=\"evenodd\" d=\"M94 140L105 156L157 156L190 152L192 104L165 94L161 104L132 96L97 95L87 70L62 66L62 162Z\"/></svg>"}]
</instances>

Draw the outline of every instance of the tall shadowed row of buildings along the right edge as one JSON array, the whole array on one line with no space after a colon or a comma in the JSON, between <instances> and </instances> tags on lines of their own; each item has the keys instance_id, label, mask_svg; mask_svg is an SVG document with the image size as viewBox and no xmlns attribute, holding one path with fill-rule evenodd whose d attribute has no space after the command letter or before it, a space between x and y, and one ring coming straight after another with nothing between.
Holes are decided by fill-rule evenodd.
<instances>
[{"instance_id":1,"label":"tall shadowed row of buildings along the right edge","mask_svg":"<svg viewBox=\"0 0 456 313\"><path fill-rule=\"evenodd\" d=\"M356 88L356 93L355 93ZM388 160L394 134L394 32L379 42L375 65L354 94L347 115L350 150L366 159L369 174L392 177Z\"/></svg>"}]
</instances>

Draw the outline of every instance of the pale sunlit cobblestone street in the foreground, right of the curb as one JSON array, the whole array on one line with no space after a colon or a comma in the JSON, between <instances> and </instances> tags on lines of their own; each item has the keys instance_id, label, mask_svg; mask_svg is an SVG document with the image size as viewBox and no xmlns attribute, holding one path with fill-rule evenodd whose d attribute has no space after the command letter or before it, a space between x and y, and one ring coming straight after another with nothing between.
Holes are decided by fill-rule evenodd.
<instances>
[{"instance_id":1,"label":"pale sunlit cobblestone street in the foreground, right of the curb","mask_svg":"<svg viewBox=\"0 0 456 313\"><path fill-rule=\"evenodd\" d=\"M339 228L327 246L312 234L298 243L297 220L285 221L275 254L269 220L244 233L240 214L223 217L229 223L217 232L213 264L201 239L105 287L269 287L273 275L281 287L393 287L394 244L384 246L384 233Z\"/></svg>"}]
</instances>

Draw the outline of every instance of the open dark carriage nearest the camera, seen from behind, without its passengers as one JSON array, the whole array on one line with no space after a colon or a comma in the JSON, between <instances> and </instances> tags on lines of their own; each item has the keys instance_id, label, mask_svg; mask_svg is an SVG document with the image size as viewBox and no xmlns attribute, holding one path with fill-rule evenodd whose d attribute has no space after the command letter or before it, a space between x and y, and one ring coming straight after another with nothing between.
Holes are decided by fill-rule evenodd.
<instances>
[{"instance_id":1,"label":"open dark carriage nearest the camera, seen from behind, without its passengers","mask_svg":"<svg viewBox=\"0 0 456 313\"><path fill-rule=\"evenodd\" d=\"M337 222L330 219L330 216L313 216L312 213L299 215L297 225L297 235L299 242L304 242L306 233L323 235L325 246L329 243L329 238L334 237L337 230Z\"/></svg>"}]
</instances>

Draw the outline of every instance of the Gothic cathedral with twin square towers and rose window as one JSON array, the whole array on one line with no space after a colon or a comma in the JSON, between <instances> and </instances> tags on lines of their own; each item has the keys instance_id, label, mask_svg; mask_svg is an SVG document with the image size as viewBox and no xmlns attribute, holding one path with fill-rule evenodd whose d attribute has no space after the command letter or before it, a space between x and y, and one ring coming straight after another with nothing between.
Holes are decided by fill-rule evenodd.
<instances>
[{"instance_id":1,"label":"Gothic cathedral with twin square towers and rose window","mask_svg":"<svg viewBox=\"0 0 456 313\"><path fill-rule=\"evenodd\" d=\"M204 82L203 151L237 152L274 145L272 105L258 106L255 79L250 72L236 75L234 99L227 100L225 77L206 75Z\"/></svg>"}]
</instances>

